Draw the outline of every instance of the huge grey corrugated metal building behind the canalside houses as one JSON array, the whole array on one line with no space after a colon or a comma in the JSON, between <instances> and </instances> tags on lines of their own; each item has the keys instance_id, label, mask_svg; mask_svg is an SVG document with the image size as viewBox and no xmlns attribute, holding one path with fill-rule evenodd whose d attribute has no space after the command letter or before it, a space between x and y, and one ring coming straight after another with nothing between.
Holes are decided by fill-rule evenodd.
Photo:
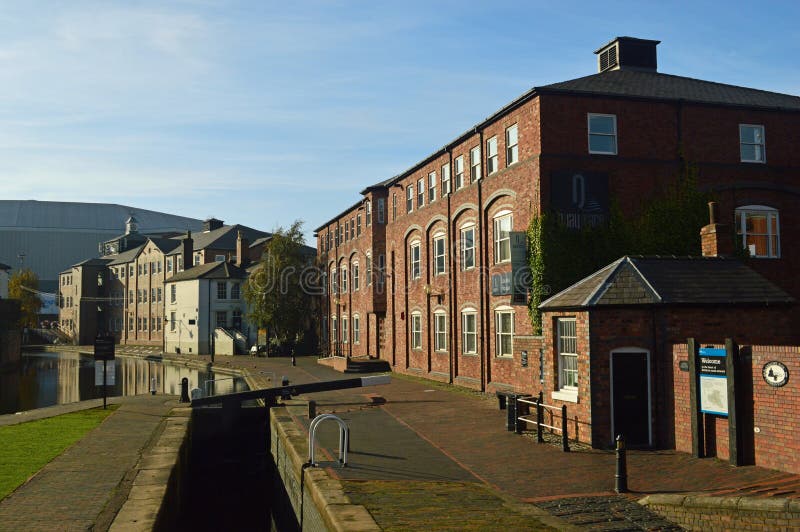
<instances>
[{"instance_id":1,"label":"huge grey corrugated metal building behind the canalside houses","mask_svg":"<svg viewBox=\"0 0 800 532\"><path fill-rule=\"evenodd\" d=\"M108 203L0 200L0 263L31 268L40 286L57 286L59 272L98 256L98 244L125 232L134 215L145 234L200 231L201 220ZM22 256L22 258L21 258Z\"/></svg>"}]
</instances>

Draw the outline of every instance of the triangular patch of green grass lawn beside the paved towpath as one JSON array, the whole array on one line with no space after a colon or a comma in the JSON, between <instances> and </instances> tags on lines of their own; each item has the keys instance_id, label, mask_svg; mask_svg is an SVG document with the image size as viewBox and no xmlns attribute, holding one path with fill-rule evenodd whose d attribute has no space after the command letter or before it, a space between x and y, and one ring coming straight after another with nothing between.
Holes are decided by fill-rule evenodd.
<instances>
[{"instance_id":1,"label":"triangular patch of green grass lawn beside the paved towpath","mask_svg":"<svg viewBox=\"0 0 800 532\"><path fill-rule=\"evenodd\" d=\"M0 427L0 499L99 425L117 405Z\"/></svg>"}]
</instances>

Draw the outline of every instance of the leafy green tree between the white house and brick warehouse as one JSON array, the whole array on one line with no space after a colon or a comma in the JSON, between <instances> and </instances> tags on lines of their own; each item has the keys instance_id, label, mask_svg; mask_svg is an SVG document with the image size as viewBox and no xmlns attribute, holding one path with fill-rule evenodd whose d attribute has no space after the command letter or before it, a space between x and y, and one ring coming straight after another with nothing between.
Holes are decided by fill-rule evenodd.
<instances>
[{"instance_id":1,"label":"leafy green tree between the white house and brick warehouse","mask_svg":"<svg viewBox=\"0 0 800 532\"><path fill-rule=\"evenodd\" d=\"M310 325L316 269L305 253L303 222L276 229L244 286L250 321L293 349Z\"/></svg>"}]
</instances>

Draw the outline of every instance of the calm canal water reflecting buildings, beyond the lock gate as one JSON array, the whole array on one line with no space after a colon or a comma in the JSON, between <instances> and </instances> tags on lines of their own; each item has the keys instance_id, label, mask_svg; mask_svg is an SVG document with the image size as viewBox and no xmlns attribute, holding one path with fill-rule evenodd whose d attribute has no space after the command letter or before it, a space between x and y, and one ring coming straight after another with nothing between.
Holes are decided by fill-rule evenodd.
<instances>
[{"instance_id":1,"label":"calm canal water reflecting buildings, beyond the lock gate","mask_svg":"<svg viewBox=\"0 0 800 532\"><path fill-rule=\"evenodd\" d=\"M117 357L114 374L109 397L150 393L153 379L158 394L180 395L184 377L189 379L190 390L200 388L204 395L248 389L241 377L140 358ZM214 382L208 383L209 380ZM103 389L95 386L91 356L73 352L23 353L17 370L0 373L0 415L100 397Z\"/></svg>"}]
</instances>

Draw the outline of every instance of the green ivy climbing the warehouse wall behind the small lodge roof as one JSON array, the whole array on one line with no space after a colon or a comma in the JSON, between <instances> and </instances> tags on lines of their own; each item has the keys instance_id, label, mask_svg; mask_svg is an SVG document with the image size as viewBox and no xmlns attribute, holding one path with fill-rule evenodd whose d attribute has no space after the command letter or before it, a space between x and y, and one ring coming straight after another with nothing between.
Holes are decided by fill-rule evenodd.
<instances>
[{"instance_id":1,"label":"green ivy climbing the warehouse wall behind the small lodge roof","mask_svg":"<svg viewBox=\"0 0 800 532\"><path fill-rule=\"evenodd\" d=\"M626 217L612 204L606 224L570 229L554 213L535 216L528 227L531 297L528 310L537 334L539 305L624 255L700 255L700 229L708 223L711 196L697 188L691 167L663 194Z\"/></svg>"}]
</instances>

